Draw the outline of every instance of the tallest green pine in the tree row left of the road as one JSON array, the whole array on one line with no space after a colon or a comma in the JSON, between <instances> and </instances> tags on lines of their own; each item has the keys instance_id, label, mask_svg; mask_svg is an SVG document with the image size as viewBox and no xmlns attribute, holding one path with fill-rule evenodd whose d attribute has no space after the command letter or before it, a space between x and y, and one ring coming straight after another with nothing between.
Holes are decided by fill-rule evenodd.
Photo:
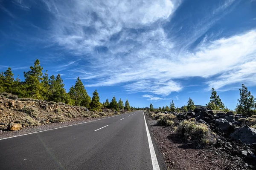
<instances>
[{"instance_id":1,"label":"tallest green pine in the tree row left of the road","mask_svg":"<svg viewBox=\"0 0 256 170\"><path fill-rule=\"evenodd\" d=\"M44 100L42 93L44 92L44 85L41 84L43 80L43 67L40 66L40 61L37 59L34 63L34 67L30 66L30 71L24 72L25 82L23 91L21 94L25 98L36 98Z\"/></svg>"}]
</instances>

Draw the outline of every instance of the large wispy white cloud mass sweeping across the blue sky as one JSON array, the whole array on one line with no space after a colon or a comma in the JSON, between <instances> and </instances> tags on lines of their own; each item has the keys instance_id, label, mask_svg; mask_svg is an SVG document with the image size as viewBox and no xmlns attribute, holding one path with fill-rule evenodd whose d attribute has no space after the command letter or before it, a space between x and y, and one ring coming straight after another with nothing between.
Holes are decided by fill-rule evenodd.
<instances>
[{"instance_id":1,"label":"large wispy white cloud mass sweeping across the blue sky","mask_svg":"<svg viewBox=\"0 0 256 170\"><path fill-rule=\"evenodd\" d=\"M209 89L256 85L256 29L226 37L222 30L208 33L239 1L221 1L190 25L187 16L172 21L181 0L42 1L54 16L49 44L81 58L66 79L80 76L87 87L118 84L131 93L145 92L152 101L180 92L183 78L204 78ZM172 26L166 29L166 23Z\"/></svg>"}]
</instances>

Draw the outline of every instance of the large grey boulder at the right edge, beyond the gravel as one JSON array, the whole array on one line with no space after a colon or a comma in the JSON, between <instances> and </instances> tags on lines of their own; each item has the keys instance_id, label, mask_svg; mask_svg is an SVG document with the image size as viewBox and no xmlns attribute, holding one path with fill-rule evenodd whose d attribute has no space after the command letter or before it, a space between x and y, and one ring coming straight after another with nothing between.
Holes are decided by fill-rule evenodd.
<instances>
[{"instance_id":1,"label":"large grey boulder at the right edge, beyond the gravel","mask_svg":"<svg viewBox=\"0 0 256 170\"><path fill-rule=\"evenodd\" d=\"M246 144L256 143L256 129L245 125L244 127L237 128L234 133L230 135L233 140L240 139Z\"/></svg>"}]
</instances>

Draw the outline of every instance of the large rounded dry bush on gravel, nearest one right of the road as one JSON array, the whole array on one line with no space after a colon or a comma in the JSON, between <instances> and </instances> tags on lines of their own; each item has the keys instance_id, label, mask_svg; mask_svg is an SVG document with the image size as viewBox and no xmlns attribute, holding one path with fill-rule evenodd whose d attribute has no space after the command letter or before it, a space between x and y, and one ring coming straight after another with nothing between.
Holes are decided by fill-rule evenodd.
<instances>
[{"instance_id":1,"label":"large rounded dry bush on gravel, nearest one right of the road","mask_svg":"<svg viewBox=\"0 0 256 170\"><path fill-rule=\"evenodd\" d=\"M194 120L182 121L176 132L188 140L196 141L200 145L212 145L216 143L216 134L205 124L198 123Z\"/></svg>"}]
</instances>

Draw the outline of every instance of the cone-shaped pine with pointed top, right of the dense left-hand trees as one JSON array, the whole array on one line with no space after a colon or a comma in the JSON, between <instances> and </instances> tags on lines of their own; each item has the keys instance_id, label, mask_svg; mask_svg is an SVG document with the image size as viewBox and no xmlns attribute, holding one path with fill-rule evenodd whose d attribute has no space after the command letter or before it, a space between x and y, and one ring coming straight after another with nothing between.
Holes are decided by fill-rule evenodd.
<instances>
[{"instance_id":1,"label":"cone-shaped pine with pointed top, right of the dense left-hand trees","mask_svg":"<svg viewBox=\"0 0 256 170\"><path fill-rule=\"evenodd\" d=\"M84 85L79 77L76 80L75 86L70 88L69 93L75 106L84 106L90 108L91 98L87 94L86 89L84 89Z\"/></svg>"}]
</instances>

